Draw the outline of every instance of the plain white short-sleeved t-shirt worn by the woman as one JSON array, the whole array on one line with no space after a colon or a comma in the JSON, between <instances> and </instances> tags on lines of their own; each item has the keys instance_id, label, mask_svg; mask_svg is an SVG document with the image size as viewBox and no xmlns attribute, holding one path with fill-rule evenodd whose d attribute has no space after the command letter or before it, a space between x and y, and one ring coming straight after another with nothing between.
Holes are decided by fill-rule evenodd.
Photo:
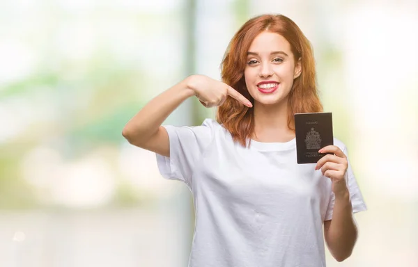
<instances>
[{"instance_id":1,"label":"plain white short-sleeved t-shirt worn by the woman","mask_svg":"<svg viewBox=\"0 0 418 267\"><path fill-rule=\"evenodd\" d=\"M325 266L323 221L332 219L331 181L297 164L295 139L242 147L215 120L164 126L170 157L161 175L185 182L196 214L189 267ZM347 154L346 146L334 145ZM366 210L348 165L353 212Z\"/></svg>"}]
</instances>

